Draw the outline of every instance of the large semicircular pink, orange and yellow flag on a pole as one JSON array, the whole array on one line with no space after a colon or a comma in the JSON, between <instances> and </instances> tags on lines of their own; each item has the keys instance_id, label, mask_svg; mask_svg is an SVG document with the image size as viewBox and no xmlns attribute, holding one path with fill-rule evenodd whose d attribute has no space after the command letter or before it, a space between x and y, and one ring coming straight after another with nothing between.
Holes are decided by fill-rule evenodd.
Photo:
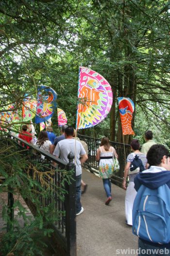
<instances>
[{"instance_id":1,"label":"large semicircular pink, orange and yellow flag on a pole","mask_svg":"<svg viewBox=\"0 0 170 256\"><path fill-rule=\"evenodd\" d=\"M100 123L109 113L113 94L110 84L99 73L80 67L76 129Z\"/></svg>"}]
</instances>

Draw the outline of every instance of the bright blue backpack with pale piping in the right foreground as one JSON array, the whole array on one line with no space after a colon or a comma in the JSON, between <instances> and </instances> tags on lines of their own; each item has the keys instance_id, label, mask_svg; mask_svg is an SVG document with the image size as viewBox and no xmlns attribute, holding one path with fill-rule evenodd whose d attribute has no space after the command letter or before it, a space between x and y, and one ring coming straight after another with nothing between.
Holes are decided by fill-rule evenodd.
<instances>
[{"instance_id":1,"label":"bright blue backpack with pale piping in the right foreground","mask_svg":"<svg viewBox=\"0 0 170 256\"><path fill-rule=\"evenodd\" d=\"M157 189L141 185L133 206L132 232L153 243L170 242L170 188Z\"/></svg>"}]
</instances>

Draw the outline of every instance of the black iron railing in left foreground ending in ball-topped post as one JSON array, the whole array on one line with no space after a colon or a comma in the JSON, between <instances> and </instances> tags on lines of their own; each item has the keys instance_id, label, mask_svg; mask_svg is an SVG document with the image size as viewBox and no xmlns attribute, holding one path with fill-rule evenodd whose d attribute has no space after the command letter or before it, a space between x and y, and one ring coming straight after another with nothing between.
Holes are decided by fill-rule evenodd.
<instances>
[{"instance_id":1,"label":"black iron railing in left foreground ending in ball-topped post","mask_svg":"<svg viewBox=\"0 0 170 256\"><path fill-rule=\"evenodd\" d=\"M76 256L76 185L75 185L75 165L73 164L74 156L68 155L69 163L57 159L46 151L41 150L26 141L9 135L12 138L11 143L17 144L18 150L22 154L27 154L29 167L24 171L27 172L31 179L36 179L41 186L48 187L46 197L39 196L39 202L43 207L53 205L53 213L57 214L55 223L52 223L54 232L51 237L53 249L57 248L61 255ZM25 151L23 151L25 149ZM40 168L37 168L37 166ZM64 173L71 172L71 184L66 182ZM45 175L43 175L45 174ZM24 185L24 184L23 184ZM35 188L37 193L37 187ZM62 191L63 192L62 195ZM33 190L34 191L34 190ZM8 207L12 209L14 198L11 193L8 195ZM64 197L64 200L62 199ZM37 209L34 202L25 199L32 214L36 216ZM11 213L12 211L10 211ZM11 216L13 218L14 216Z\"/></svg>"}]
</instances>

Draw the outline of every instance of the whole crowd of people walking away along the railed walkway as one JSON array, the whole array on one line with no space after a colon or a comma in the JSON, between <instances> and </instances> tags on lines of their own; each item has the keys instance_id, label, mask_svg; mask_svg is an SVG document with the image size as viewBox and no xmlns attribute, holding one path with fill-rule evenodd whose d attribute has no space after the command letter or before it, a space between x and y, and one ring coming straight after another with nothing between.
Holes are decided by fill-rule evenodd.
<instances>
[{"instance_id":1,"label":"whole crowd of people walking away along the railed walkway","mask_svg":"<svg viewBox=\"0 0 170 256\"><path fill-rule=\"evenodd\" d=\"M88 159L88 150L87 145L84 144L85 142L81 143L79 138L76 138L75 147L76 135L73 127L63 125L61 131L62 135L58 137L53 133L52 127L49 127L47 131L41 131L37 140L34 141L34 145L40 149L47 151L56 158L61 158L65 162L68 162L68 154L70 152L72 152L74 156L76 156L76 215L78 216L84 212L84 208L81 204L81 194L85 193L87 185L82 180L82 164ZM18 137L26 140L29 143L32 143L33 136L29 132L27 132L26 125L22 126L22 132L19 134ZM162 236L161 229L163 228L163 224L160 223L166 222L166 219L163 219L163 217L162 222L159 221L159 218L161 219L161 217L159 216L163 215L163 212L165 212L165 210L160 210L163 206L159 205L159 200L156 201L155 198L157 197L157 189L166 185L166 197L168 197L168 203L170 206L170 153L165 146L156 144L153 141L152 131L147 131L145 133L145 140L146 143L142 145L140 150L140 143L138 139L133 139L131 141L132 153L130 153L126 159L124 177L122 182L122 187L126 190L125 222L127 225L133 227L133 233L139 237L138 248L140 249L140 252L143 250L143 253L139 253L138 256L152 256L152 253L147 254L147 250L151 249L163 250L163 253L161 255L170 256L170 237L167 238L168 233L166 233L166 229L168 227L165 228L166 234L163 235L167 239L162 238L160 239L161 242L158 242L154 234L152 234L153 237L151 237L149 234L150 230L153 229L151 223L152 221L155 221L154 230L158 234L160 233L160 236ZM99 176L102 178L104 191L106 193L105 205L109 205L112 200L110 177L113 176L115 168L114 158L118 158L118 154L115 148L110 145L108 138L103 137L101 140L101 145L97 150L96 160L99 161ZM138 161L138 163L140 163L140 165L138 165L136 168L133 166L136 163L135 161ZM81 186L83 187L82 192ZM153 197L150 197L151 199L149 203L147 202L147 200L150 195L147 195L146 197L146 189L154 190L154 200L152 199ZM159 190L159 193L161 194L162 192L160 191L162 190ZM140 204L143 200L143 197L146 198L143 203L143 209L141 210ZM159 195L159 197L161 196ZM160 213L157 219L155 218L154 213L147 213L149 217L145 216L145 208L149 208L147 203L153 203L153 206L156 205L155 208L157 209L160 207ZM164 204L166 203L164 202ZM154 209L154 207L152 208ZM167 212L170 219L170 210L167 209ZM144 220L144 224L142 223L142 219ZM142 227L142 225L144 225L144 227ZM144 234L145 228L147 235ZM140 234L140 236L138 234ZM169 254L166 251L167 249L169 249Z\"/></svg>"}]
</instances>

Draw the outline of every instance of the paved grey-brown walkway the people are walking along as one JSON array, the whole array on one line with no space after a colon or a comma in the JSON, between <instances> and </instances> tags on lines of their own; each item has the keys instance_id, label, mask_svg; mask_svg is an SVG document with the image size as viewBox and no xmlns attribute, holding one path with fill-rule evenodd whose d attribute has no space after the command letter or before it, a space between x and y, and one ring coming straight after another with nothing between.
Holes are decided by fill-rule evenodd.
<instances>
[{"instance_id":1,"label":"paved grey-brown walkway the people are walking along","mask_svg":"<svg viewBox=\"0 0 170 256\"><path fill-rule=\"evenodd\" d=\"M77 256L136 256L130 250L137 249L137 236L125 224L125 191L112 184L112 201L106 206L102 179L83 170L83 180L88 187L81 200L85 212L77 217Z\"/></svg>"}]
</instances>

